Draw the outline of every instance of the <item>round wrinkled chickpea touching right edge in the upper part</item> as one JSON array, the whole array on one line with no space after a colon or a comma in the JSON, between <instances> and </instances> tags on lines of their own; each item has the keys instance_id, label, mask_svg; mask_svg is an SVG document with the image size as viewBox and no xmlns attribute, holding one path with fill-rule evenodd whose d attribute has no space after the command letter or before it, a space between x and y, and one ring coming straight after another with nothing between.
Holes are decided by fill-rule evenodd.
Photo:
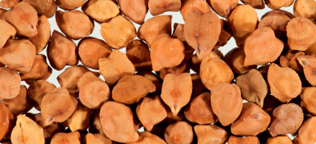
<instances>
[{"instance_id":1,"label":"round wrinkled chickpea touching right edge in the upper part","mask_svg":"<svg viewBox=\"0 0 316 144\"><path fill-rule=\"evenodd\" d=\"M305 51L316 42L316 25L305 17L293 18L286 26L288 47Z\"/></svg>"}]
</instances>

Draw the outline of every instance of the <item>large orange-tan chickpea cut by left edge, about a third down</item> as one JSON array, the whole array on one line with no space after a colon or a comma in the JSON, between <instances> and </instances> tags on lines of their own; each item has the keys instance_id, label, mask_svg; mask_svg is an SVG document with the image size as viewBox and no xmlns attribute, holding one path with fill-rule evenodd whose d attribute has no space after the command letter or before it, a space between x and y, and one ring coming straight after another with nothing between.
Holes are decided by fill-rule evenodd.
<instances>
[{"instance_id":1,"label":"large orange-tan chickpea cut by left edge, about a third down","mask_svg":"<svg viewBox=\"0 0 316 144\"><path fill-rule=\"evenodd\" d=\"M35 46L27 39L9 39L0 49L0 62L20 73L29 72L35 59Z\"/></svg>"}]
</instances>

